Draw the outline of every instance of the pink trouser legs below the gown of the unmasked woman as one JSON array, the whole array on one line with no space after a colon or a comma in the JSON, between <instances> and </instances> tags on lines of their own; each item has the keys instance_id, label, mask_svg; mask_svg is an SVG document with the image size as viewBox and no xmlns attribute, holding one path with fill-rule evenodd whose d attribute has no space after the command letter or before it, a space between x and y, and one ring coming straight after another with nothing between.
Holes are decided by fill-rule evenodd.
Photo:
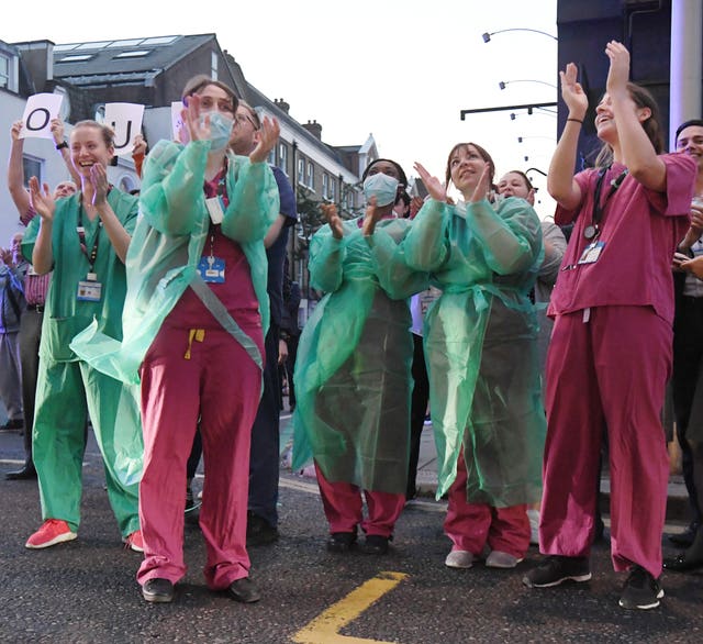
<instances>
[{"instance_id":1,"label":"pink trouser legs below the gown of the unmasked woman","mask_svg":"<svg viewBox=\"0 0 703 644\"><path fill-rule=\"evenodd\" d=\"M486 545L492 551L507 553L522 559L529 547L527 506L495 508L488 503L470 503L466 498L466 462L464 451L457 460L457 477L447 493L449 503L444 521L445 534L453 551L481 555Z\"/></svg>"}]
</instances>

